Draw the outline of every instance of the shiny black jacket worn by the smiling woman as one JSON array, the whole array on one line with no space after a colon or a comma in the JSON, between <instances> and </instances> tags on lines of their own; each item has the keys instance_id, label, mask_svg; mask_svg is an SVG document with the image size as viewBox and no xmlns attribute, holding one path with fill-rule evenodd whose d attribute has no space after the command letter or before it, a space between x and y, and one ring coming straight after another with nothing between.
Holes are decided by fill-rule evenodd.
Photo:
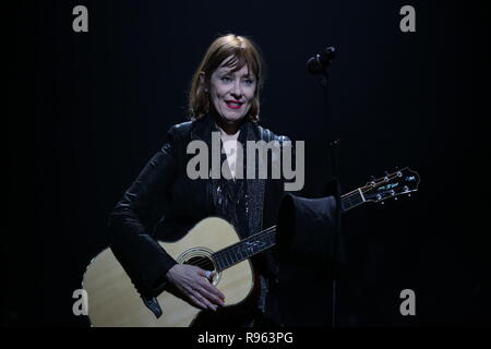
<instances>
[{"instance_id":1,"label":"shiny black jacket worn by the smiling woman","mask_svg":"<svg viewBox=\"0 0 491 349\"><path fill-rule=\"evenodd\" d=\"M250 121L243 128L248 128L248 141L277 140L283 144L288 140ZM203 218L216 216L212 201L214 181L191 180L187 176L187 164L194 156L187 154L189 142L202 140L211 146L212 131L216 131L216 125L211 116L171 127L164 146L110 214L112 252L145 298L156 297L166 288L166 274L177 263L156 240L176 240ZM251 233L276 224L283 195L283 180L248 180ZM278 277L275 249L264 252L253 266L268 280L270 289L274 288Z\"/></svg>"}]
</instances>

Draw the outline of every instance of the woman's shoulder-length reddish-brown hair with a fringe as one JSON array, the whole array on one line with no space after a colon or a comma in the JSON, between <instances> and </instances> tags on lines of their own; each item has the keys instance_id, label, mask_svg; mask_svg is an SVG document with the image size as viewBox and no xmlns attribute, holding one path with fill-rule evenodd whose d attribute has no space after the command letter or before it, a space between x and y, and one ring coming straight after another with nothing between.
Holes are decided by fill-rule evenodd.
<instances>
[{"instance_id":1,"label":"woman's shoulder-length reddish-brown hair with a fringe","mask_svg":"<svg viewBox=\"0 0 491 349\"><path fill-rule=\"evenodd\" d=\"M230 56L232 58L227 62L226 67L231 67L232 72L236 72L247 64L256 77L258 84L254 99L249 109L248 118L254 122L259 120L260 93L264 83L264 61L259 47L251 38L235 34L217 37L209 45L200 67L194 72L189 91L189 117L191 120L201 119L209 112L209 95L205 92L205 86L201 83L201 73L204 72L205 74L206 85L209 82L212 73Z\"/></svg>"}]
</instances>

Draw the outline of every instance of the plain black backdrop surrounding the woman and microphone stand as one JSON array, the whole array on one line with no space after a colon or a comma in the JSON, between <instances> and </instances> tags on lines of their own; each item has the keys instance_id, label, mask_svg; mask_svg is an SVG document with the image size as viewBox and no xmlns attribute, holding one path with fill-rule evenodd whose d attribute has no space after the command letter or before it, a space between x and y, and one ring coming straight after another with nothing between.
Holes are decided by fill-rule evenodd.
<instances>
[{"instance_id":1,"label":"plain black backdrop surrounding the woman and microphone stand","mask_svg":"<svg viewBox=\"0 0 491 349\"><path fill-rule=\"evenodd\" d=\"M77 4L88 9L88 33L72 29ZM416 33L399 29L405 4L416 9ZM306 141L300 195L319 197L326 180L322 93L304 67L327 45L338 51L330 111L343 191L395 167L421 177L416 195L345 215L349 285L339 325L489 324L489 229L479 221L489 190L476 177L489 157L476 155L487 137L474 135L472 101L472 55L487 46L476 36L482 12L464 1L9 7L1 324L87 326L72 314L72 292L108 244L108 214L167 129L185 120L191 76L227 33L251 36L264 53L262 124ZM416 292L416 316L399 313L406 288Z\"/></svg>"}]
</instances>

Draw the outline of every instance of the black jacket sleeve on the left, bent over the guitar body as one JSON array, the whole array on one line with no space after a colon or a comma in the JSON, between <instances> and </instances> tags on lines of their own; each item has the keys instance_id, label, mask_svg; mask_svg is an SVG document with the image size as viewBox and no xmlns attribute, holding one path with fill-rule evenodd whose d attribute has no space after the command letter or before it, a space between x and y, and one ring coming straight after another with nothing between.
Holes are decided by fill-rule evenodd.
<instances>
[{"instance_id":1,"label":"black jacket sleeve on the left, bent over the guitar body","mask_svg":"<svg viewBox=\"0 0 491 349\"><path fill-rule=\"evenodd\" d=\"M158 296L167 286L167 272L177 262L153 237L164 215L166 192L175 180L176 128L152 157L109 216L110 248L144 298Z\"/></svg>"}]
</instances>

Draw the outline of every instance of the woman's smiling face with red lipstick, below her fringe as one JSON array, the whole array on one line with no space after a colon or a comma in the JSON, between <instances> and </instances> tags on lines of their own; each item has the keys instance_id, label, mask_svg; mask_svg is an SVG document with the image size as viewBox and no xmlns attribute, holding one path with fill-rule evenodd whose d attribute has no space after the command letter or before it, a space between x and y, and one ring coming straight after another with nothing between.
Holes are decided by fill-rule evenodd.
<instances>
[{"instance_id":1,"label":"woman's smiling face with red lipstick, below her fringe","mask_svg":"<svg viewBox=\"0 0 491 349\"><path fill-rule=\"evenodd\" d=\"M231 70L221 63L209 79L212 103L228 125L237 124L248 113L256 88L256 79L247 65L233 73Z\"/></svg>"}]
</instances>

